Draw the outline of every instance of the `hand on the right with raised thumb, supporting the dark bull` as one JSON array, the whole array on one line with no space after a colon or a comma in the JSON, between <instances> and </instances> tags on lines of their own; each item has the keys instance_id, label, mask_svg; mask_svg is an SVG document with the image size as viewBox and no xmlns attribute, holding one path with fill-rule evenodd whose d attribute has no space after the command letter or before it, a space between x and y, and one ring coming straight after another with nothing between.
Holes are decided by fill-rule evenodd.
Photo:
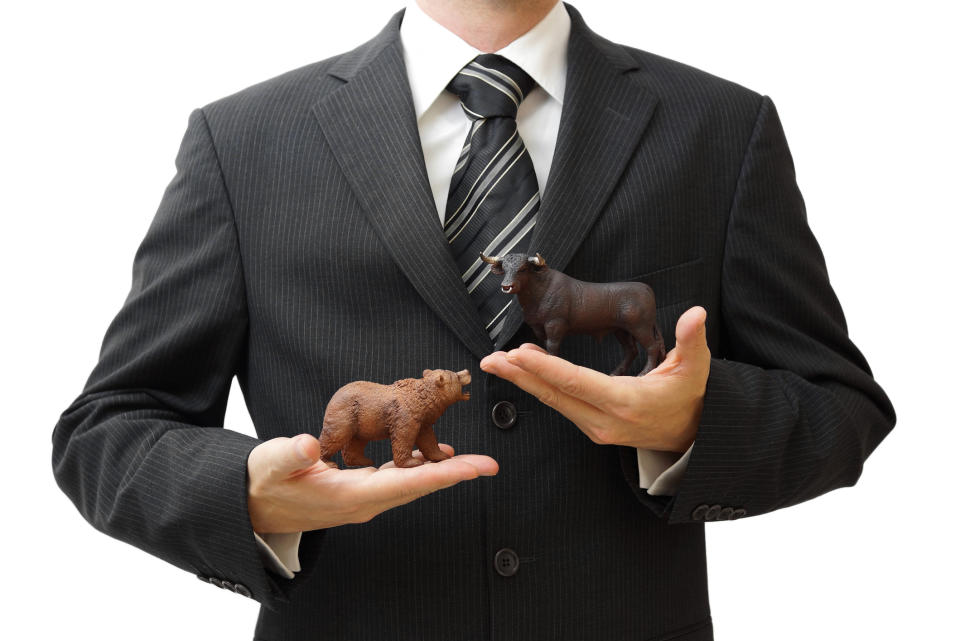
<instances>
[{"instance_id":1,"label":"hand on the right with raised thumb, supporting the dark bull","mask_svg":"<svg viewBox=\"0 0 960 641\"><path fill-rule=\"evenodd\" d=\"M524 343L494 352L480 369L511 381L603 445L683 452L693 443L710 373L707 311L677 320L677 345L644 376L608 376Z\"/></svg>"}]
</instances>

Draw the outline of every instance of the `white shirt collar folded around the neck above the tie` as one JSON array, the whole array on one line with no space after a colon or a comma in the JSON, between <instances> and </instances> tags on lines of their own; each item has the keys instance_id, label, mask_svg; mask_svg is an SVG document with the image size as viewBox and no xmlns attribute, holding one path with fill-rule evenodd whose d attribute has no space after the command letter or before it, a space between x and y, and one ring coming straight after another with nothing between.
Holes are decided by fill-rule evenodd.
<instances>
[{"instance_id":1,"label":"white shirt collar folded around the neck above the tie","mask_svg":"<svg viewBox=\"0 0 960 641\"><path fill-rule=\"evenodd\" d=\"M567 81L570 15L563 2L530 31L496 53L509 58L554 100L563 104ZM411 0L400 24L400 42L417 119L426 112L460 69L482 51L467 44Z\"/></svg>"}]
</instances>

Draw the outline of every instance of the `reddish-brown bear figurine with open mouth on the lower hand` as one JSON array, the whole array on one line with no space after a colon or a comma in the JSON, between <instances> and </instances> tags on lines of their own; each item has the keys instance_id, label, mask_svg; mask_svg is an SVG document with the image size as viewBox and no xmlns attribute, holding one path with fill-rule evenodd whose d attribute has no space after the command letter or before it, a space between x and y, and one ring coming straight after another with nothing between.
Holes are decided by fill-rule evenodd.
<instances>
[{"instance_id":1,"label":"reddish-brown bear figurine with open mouth on the lower hand","mask_svg":"<svg viewBox=\"0 0 960 641\"><path fill-rule=\"evenodd\" d=\"M327 403L320 432L320 457L327 465L343 450L347 465L373 465L363 450L370 441L389 438L397 467L416 467L423 461L413 457L416 444L424 458L450 458L437 444L433 424L457 401L466 401L470 372L425 369L423 378L404 378L392 385L354 381L338 389Z\"/></svg>"}]
</instances>

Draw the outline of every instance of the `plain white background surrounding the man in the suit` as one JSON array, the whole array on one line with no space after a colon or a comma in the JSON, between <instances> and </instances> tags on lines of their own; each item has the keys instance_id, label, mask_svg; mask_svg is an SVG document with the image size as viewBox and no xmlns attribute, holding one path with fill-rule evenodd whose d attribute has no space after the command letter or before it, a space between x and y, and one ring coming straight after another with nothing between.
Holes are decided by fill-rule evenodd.
<instances>
[{"instance_id":1,"label":"plain white background surrounding the man in the suit","mask_svg":"<svg viewBox=\"0 0 960 641\"><path fill-rule=\"evenodd\" d=\"M402 2L3 10L5 638L252 636L255 602L80 517L54 483L51 431L126 296L189 112L354 47ZM960 596L950 3L578 4L608 38L773 98L850 334L898 411L854 488L707 525L717 639L949 636ZM236 384L226 424L253 433Z\"/></svg>"}]
</instances>

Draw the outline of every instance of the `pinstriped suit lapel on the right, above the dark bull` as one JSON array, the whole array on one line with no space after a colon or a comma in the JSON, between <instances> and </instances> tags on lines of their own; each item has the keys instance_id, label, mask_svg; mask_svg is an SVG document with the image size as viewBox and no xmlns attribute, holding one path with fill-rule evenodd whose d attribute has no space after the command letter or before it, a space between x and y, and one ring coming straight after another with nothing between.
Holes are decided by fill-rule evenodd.
<instances>
[{"instance_id":1,"label":"pinstriped suit lapel on the right, above the dark bull","mask_svg":"<svg viewBox=\"0 0 960 641\"><path fill-rule=\"evenodd\" d=\"M619 45L591 31L570 5L567 11L571 25L563 112L530 241L530 252L540 252L558 270L570 262L602 211L658 101L631 77L637 63ZM513 337L521 321L514 304L496 349Z\"/></svg>"}]
</instances>

